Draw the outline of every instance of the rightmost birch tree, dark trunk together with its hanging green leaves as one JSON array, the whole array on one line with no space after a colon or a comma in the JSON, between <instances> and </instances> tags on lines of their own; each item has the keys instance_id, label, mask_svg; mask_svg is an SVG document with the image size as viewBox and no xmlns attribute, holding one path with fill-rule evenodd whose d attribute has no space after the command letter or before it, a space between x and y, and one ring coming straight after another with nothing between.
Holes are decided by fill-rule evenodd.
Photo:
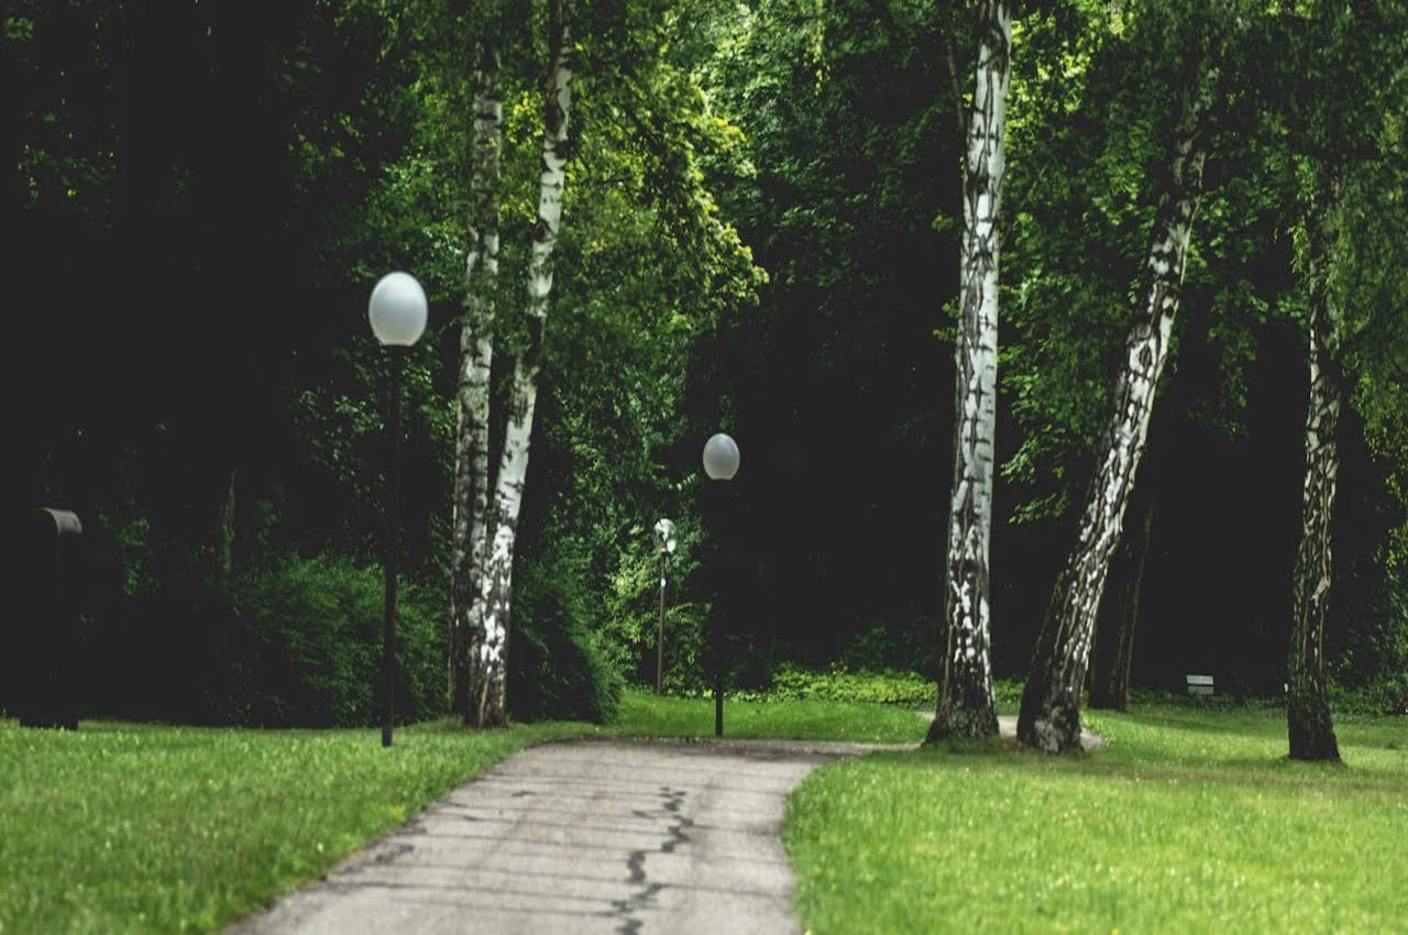
<instances>
[{"instance_id":1,"label":"rightmost birch tree, dark trunk together with its hanging green leaves","mask_svg":"<svg viewBox=\"0 0 1408 935\"><path fill-rule=\"evenodd\" d=\"M1287 45L1301 52L1293 58L1298 68L1288 82L1287 125L1298 131L1294 144L1305 152L1291 166L1301 166L1311 186L1302 244L1309 400L1301 538L1291 573L1287 732L1291 759L1339 762L1325 673L1338 428L1342 407L1353 399L1373 438L1384 425L1380 407L1394 396L1384 390L1402 382L1402 294L1391 283L1401 282L1402 268L1402 237L1394 227L1402 217L1405 21L1397 4L1367 0L1315 4L1304 17L1294 8L1286 13ZM1373 183L1366 189L1356 179ZM1364 252L1369 244L1374 246ZM1366 280L1374 284L1364 289ZM1394 370L1397 379L1383 379ZM1387 410L1397 408L1387 422L1397 424L1398 434L1405 424L1400 407L1390 403Z\"/></svg>"}]
</instances>

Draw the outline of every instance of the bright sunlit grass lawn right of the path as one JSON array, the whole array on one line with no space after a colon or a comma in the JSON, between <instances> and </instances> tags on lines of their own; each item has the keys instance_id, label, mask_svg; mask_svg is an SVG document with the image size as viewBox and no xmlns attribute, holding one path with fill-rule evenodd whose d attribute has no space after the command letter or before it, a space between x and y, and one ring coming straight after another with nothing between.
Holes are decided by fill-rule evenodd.
<instances>
[{"instance_id":1,"label":"bright sunlit grass lawn right of the path","mask_svg":"<svg viewBox=\"0 0 1408 935\"><path fill-rule=\"evenodd\" d=\"M1408 720L1286 759L1274 713L1101 715L1094 755L876 753L787 807L797 907L865 932L1405 932Z\"/></svg>"}]
</instances>

